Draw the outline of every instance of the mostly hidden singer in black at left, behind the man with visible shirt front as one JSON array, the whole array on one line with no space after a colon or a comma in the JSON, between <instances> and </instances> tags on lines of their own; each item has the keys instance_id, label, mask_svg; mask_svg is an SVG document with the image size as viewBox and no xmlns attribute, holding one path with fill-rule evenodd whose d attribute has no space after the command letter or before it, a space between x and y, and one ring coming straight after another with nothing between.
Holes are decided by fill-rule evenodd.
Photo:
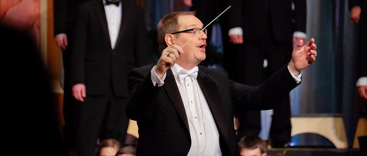
<instances>
[{"instance_id":1,"label":"mostly hidden singer in black at left, behind the man with visible shirt front","mask_svg":"<svg viewBox=\"0 0 367 156\"><path fill-rule=\"evenodd\" d=\"M73 94L70 85L71 70L71 51L73 28L75 25L77 6L89 0L54 0L54 36L56 45L62 50L62 65L64 69L64 98L63 98L63 116L65 126L63 127L63 135L67 147L70 149L72 137L72 105Z\"/></svg>"}]
</instances>

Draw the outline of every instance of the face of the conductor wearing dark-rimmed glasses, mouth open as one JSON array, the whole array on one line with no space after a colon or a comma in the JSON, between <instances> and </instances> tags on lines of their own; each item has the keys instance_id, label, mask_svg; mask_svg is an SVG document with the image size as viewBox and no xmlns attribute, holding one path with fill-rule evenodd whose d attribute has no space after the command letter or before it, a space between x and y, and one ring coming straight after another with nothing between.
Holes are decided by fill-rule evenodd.
<instances>
[{"instance_id":1,"label":"face of the conductor wearing dark-rimmed glasses, mouth open","mask_svg":"<svg viewBox=\"0 0 367 156\"><path fill-rule=\"evenodd\" d=\"M178 31L193 29L193 28L203 28L203 23L193 15L183 15L178 17ZM179 33L175 44L180 47L189 41L195 34L192 31ZM182 63L197 63L199 64L205 59L205 47L206 47L206 34L200 32L195 38L188 42L185 47L182 48L183 54L180 55L179 59Z\"/></svg>"}]
</instances>

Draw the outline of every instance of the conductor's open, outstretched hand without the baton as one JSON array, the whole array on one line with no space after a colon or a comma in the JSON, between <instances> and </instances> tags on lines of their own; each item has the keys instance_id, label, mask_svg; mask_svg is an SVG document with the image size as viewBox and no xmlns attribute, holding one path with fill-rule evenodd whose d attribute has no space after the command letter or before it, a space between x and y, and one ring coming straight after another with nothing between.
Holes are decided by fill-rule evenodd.
<instances>
[{"instance_id":1,"label":"conductor's open, outstretched hand without the baton","mask_svg":"<svg viewBox=\"0 0 367 156\"><path fill-rule=\"evenodd\" d=\"M315 39L311 38L306 45L302 45L303 40L300 40L296 47L293 48L292 59L288 64L289 69L294 75L298 75L302 69L307 68L316 60L317 47Z\"/></svg>"}]
</instances>

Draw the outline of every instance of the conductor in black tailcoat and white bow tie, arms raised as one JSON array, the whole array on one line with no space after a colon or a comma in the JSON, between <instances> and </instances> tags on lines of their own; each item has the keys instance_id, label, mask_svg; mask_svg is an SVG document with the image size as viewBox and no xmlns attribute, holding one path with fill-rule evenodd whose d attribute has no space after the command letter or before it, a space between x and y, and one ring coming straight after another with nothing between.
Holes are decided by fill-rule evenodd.
<instances>
[{"instance_id":1,"label":"conductor in black tailcoat and white bow tie, arms raised","mask_svg":"<svg viewBox=\"0 0 367 156\"><path fill-rule=\"evenodd\" d=\"M158 63L129 73L126 113L139 126L137 155L239 155L233 110L273 108L315 61L315 41L303 47L300 41L290 63L263 84L236 83L223 70L197 66L206 58L202 28L193 12L164 16L157 26Z\"/></svg>"}]
</instances>

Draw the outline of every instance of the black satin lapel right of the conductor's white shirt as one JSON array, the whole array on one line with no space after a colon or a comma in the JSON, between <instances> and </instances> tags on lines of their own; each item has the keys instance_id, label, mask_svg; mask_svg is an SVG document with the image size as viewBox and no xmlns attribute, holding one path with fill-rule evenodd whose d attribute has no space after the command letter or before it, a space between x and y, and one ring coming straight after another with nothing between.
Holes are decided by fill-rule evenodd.
<instances>
[{"instance_id":1,"label":"black satin lapel right of the conductor's white shirt","mask_svg":"<svg viewBox=\"0 0 367 156\"><path fill-rule=\"evenodd\" d=\"M209 74L204 73L202 71L202 68L199 68L197 82L199 83L201 91L203 92L204 97L208 103L215 124L217 125L219 134L221 134L224 138L224 141L228 143L227 123L225 122L224 110L222 108L222 100L214 79L211 78Z\"/></svg>"}]
</instances>

